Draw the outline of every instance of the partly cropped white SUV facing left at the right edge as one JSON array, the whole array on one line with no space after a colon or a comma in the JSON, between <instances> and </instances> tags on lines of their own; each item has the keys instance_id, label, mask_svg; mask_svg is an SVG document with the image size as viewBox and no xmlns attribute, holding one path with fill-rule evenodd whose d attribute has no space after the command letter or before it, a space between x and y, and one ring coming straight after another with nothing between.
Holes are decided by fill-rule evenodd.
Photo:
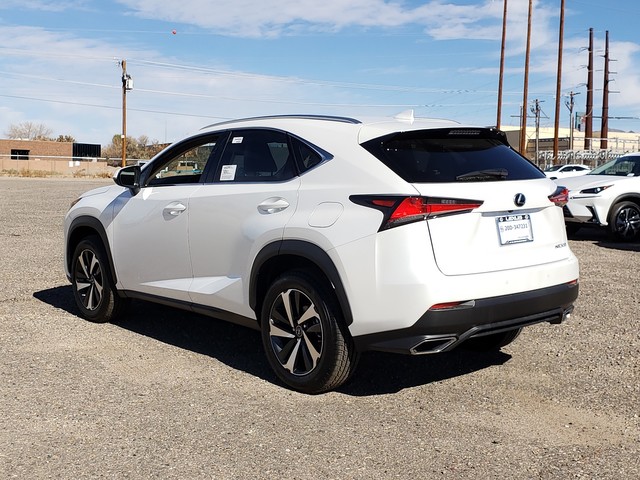
<instances>
[{"instance_id":1,"label":"partly cropped white SUV facing left at the right edge","mask_svg":"<svg viewBox=\"0 0 640 480\"><path fill-rule=\"evenodd\" d=\"M640 154L624 155L587 175L556 183L569 189L564 207L569 232L597 226L618 240L640 239Z\"/></svg>"}]
</instances>

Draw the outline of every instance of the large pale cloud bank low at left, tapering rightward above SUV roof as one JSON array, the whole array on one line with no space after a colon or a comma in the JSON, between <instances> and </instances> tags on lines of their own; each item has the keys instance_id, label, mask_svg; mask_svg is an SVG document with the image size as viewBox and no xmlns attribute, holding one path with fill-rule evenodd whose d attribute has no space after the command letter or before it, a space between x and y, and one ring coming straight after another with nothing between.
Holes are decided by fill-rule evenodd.
<instances>
[{"instance_id":1,"label":"large pale cloud bank low at left, tapering rightward above SUV roof","mask_svg":"<svg viewBox=\"0 0 640 480\"><path fill-rule=\"evenodd\" d=\"M360 98L328 82L233 71L226 65L190 67L155 50L123 50L42 28L5 27L0 45L0 97L6 106L0 111L0 132L31 120L45 123L55 135L108 143L121 130L121 58L134 78L127 95L128 134L159 141L177 140L222 119L321 110Z\"/></svg>"}]
</instances>

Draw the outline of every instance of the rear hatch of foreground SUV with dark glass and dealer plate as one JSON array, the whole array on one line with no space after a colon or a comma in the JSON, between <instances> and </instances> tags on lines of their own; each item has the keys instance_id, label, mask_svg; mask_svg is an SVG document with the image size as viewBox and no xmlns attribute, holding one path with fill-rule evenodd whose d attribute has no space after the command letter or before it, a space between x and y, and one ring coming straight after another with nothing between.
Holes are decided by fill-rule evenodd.
<instances>
[{"instance_id":1,"label":"rear hatch of foreground SUV with dark glass and dealer plate","mask_svg":"<svg viewBox=\"0 0 640 480\"><path fill-rule=\"evenodd\" d=\"M517 269L570 257L556 185L493 129L396 133L363 144L432 202L476 205L430 215L445 275ZM478 206L479 205L479 206Z\"/></svg>"}]
</instances>

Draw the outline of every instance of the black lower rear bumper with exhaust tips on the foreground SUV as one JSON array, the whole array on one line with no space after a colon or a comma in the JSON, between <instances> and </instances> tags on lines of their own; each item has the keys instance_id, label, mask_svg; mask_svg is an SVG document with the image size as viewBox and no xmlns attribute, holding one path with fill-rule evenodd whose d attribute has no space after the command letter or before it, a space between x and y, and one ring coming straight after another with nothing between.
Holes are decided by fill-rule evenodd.
<instances>
[{"instance_id":1,"label":"black lower rear bumper with exhaust tips on the foreground SUV","mask_svg":"<svg viewBox=\"0 0 640 480\"><path fill-rule=\"evenodd\" d=\"M472 337L536 323L562 323L573 310L578 284L483 298L459 307L428 310L411 327L354 337L360 351L421 355L454 349Z\"/></svg>"}]
</instances>

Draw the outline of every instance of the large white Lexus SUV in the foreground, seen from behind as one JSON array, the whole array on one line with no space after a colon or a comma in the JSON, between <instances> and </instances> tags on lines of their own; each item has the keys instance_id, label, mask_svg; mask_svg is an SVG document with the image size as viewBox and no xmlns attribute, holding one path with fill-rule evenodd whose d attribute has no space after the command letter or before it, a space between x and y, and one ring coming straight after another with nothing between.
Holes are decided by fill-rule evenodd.
<instances>
[{"instance_id":1,"label":"large white Lexus SUV in the foreground, seen from behind","mask_svg":"<svg viewBox=\"0 0 640 480\"><path fill-rule=\"evenodd\" d=\"M242 119L114 179L65 218L80 314L136 298L260 329L302 392L342 385L367 350L499 349L578 295L567 191L495 129Z\"/></svg>"}]
</instances>

